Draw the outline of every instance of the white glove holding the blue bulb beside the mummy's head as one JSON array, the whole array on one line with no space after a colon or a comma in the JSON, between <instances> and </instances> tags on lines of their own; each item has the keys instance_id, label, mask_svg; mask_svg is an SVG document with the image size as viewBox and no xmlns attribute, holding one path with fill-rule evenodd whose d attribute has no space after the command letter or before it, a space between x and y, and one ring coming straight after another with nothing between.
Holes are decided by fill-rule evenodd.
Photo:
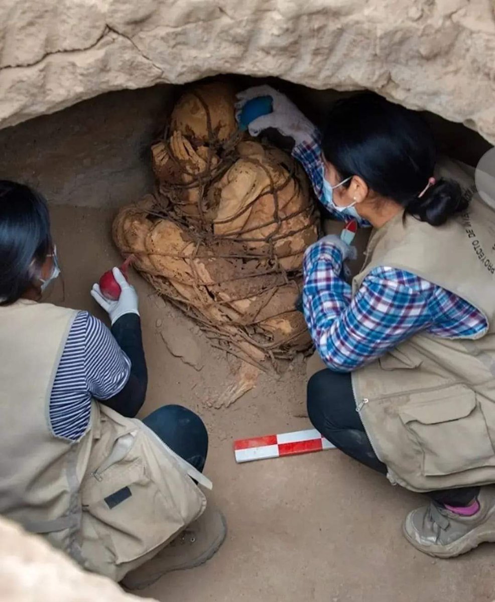
<instances>
[{"instance_id":1,"label":"white glove holding the blue bulb beside the mummy's head","mask_svg":"<svg viewBox=\"0 0 495 602\"><path fill-rule=\"evenodd\" d=\"M257 85L239 92L237 94L237 102L235 103L236 117L238 118L247 101L251 101L252 98L258 98L258 96L271 96L273 99L273 110L272 113L252 120L247 127L249 134L257 136L263 129L275 128L281 134L294 138L296 144L311 140L311 136L316 131L313 123L299 111L287 96L277 92L270 85Z\"/></svg>"}]
</instances>

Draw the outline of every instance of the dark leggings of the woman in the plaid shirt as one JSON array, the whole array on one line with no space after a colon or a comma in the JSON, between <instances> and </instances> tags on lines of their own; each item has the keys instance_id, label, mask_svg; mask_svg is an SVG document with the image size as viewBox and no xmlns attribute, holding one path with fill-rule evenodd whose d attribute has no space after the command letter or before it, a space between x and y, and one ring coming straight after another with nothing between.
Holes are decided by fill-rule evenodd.
<instances>
[{"instance_id":1,"label":"dark leggings of the woman in the plaid shirt","mask_svg":"<svg viewBox=\"0 0 495 602\"><path fill-rule=\"evenodd\" d=\"M376 457L356 411L350 374L332 370L314 374L308 382L308 415L315 429L341 452L387 474L387 467ZM427 495L439 504L467 506L478 492L479 487L463 487L431 491Z\"/></svg>"}]
</instances>

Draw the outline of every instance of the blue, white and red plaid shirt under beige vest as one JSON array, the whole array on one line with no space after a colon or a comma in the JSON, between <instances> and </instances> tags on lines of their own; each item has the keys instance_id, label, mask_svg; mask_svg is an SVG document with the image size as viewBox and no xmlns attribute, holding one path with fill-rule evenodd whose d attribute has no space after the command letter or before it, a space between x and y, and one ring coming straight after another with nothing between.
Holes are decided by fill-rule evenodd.
<instances>
[{"instance_id":1,"label":"blue, white and red plaid shirt under beige vest","mask_svg":"<svg viewBox=\"0 0 495 602\"><path fill-rule=\"evenodd\" d=\"M319 134L294 147L323 200L325 171ZM339 219L346 216L327 209ZM364 220L361 226L368 226ZM483 315L464 299L414 274L376 267L352 297L341 278L340 250L324 239L310 246L304 257L303 306L316 349L331 370L350 372L393 349L420 330L444 338L484 333Z\"/></svg>"}]
</instances>

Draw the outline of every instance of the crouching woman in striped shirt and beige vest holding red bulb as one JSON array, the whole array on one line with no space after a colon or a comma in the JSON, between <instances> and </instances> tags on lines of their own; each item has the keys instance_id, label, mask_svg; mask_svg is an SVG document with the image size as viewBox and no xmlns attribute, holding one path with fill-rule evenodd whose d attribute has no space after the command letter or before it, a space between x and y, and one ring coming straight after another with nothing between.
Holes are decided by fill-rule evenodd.
<instances>
[{"instance_id":1,"label":"crouching woman in striped shirt and beige vest holding red bulb","mask_svg":"<svg viewBox=\"0 0 495 602\"><path fill-rule=\"evenodd\" d=\"M135 418L148 374L134 287L117 268L118 300L93 287L110 331L39 302L59 271L45 200L0 181L0 512L117 581L151 558L148 582L201 564L226 533L196 484L211 486L205 426L176 405Z\"/></svg>"}]
</instances>

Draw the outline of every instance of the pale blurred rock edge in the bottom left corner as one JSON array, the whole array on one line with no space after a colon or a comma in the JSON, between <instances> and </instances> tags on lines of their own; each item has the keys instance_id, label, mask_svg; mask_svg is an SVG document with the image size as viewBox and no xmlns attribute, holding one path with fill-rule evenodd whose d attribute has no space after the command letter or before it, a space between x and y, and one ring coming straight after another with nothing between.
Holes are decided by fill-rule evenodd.
<instances>
[{"instance_id":1,"label":"pale blurred rock edge in the bottom left corner","mask_svg":"<svg viewBox=\"0 0 495 602\"><path fill-rule=\"evenodd\" d=\"M86 573L42 538L2 517L0 583L0 602L145 602L107 577Z\"/></svg>"}]
</instances>

